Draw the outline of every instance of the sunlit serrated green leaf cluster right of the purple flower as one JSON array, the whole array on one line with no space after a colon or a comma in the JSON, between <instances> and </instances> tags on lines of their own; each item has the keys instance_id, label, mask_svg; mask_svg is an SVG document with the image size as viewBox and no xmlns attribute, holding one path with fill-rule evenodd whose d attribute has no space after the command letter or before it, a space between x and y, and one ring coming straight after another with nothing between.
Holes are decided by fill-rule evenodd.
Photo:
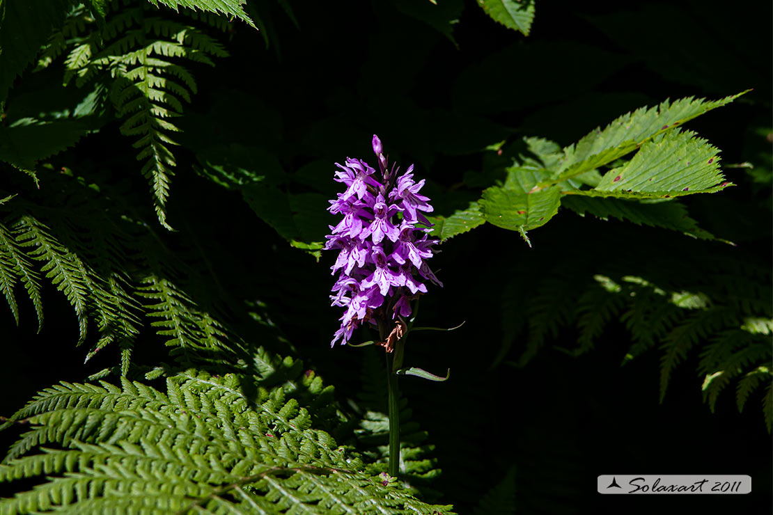
<instances>
[{"instance_id":1,"label":"sunlit serrated green leaf cluster right of the purple flower","mask_svg":"<svg viewBox=\"0 0 773 515\"><path fill-rule=\"evenodd\" d=\"M557 214L562 197L567 195L637 200L721 191L732 184L723 182L717 148L677 126L724 106L741 94L713 102L690 97L673 104L666 100L649 110L642 107L619 117L604 130L587 134L563 151L551 141L526 138L527 154L521 154L505 169L504 183L483 191L478 201L483 218L519 232L531 245L526 232L549 222ZM501 151L500 148L498 152ZM632 151L636 154L629 161L617 163ZM608 164L616 166L601 176L598 168ZM608 201L593 205L570 200L569 207L581 214L601 213L598 216L603 218L612 215L696 237L712 237L690 219L675 222L674 212L680 209L676 205L628 208ZM468 212L465 216L472 215ZM442 239L455 234L457 230L441 232Z\"/></svg>"}]
</instances>

